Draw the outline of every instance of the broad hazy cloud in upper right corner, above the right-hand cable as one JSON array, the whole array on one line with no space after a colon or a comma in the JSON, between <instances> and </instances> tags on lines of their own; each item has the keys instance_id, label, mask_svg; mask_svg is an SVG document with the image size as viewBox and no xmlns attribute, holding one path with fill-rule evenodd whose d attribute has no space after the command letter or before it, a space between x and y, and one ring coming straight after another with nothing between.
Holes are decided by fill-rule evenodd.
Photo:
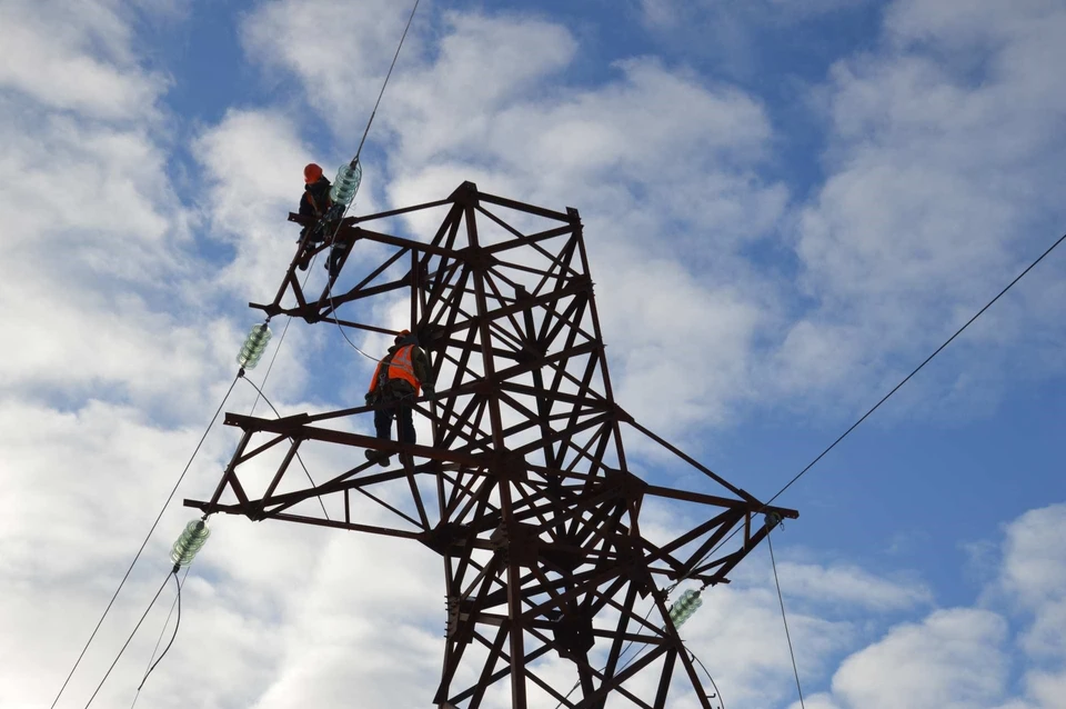
<instances>
[{"instance_id":1,"label":"broad hazy cloud in upper right corner, above the right-hand cable","mask_svg":"<svg viewBox=\"0 0 1066 709\"><path fill-rule=\"evenodd\" d=\"M915 357L1060 229L1049 186L1062 183L1064 106L1045 62L1066 16L1054 3L973 10L894 3L885 49L832 69L828 177L796 234L801 284L819 306L785 341L794 391ZM971 337L994 346L1025 323L1062 338L1057 316L1014 299Z\"/></svg>"}]
</instances>

